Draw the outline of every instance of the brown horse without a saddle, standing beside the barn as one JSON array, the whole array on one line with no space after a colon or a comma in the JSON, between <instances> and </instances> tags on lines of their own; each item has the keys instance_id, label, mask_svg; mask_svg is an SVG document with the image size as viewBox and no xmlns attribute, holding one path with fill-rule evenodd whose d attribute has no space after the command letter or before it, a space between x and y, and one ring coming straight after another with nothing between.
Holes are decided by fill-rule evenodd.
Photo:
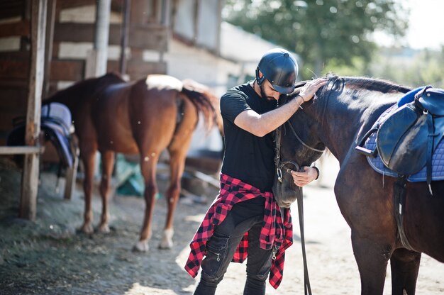
<instances>
[{"instance_id":1,"label":"brown horse without a saddle, standing beside the barn","mask_svg":"<svg viewBox=\"0 0 444 295\"><path fill-rule=\"evenodd\" d=\"M165 148L170 154L170 187L166 192L168 213L160 247L172 247L173 214L181 189L180 179L192 139L203 116L207 128L214 122L222 130L218 99L209 89L166 75L125 82L116 74L87 79L58 91L44 101L65 104L72 113L84 164L85 211L82 231L92 233L91 193L96 152L101 153L102 213L99 231L109 231L108 196L114 153L140 155L145 179L145 218L134 250L147 251L151 236L152 211L157 193L156 167Z\"/></svg>"}]
</instances>

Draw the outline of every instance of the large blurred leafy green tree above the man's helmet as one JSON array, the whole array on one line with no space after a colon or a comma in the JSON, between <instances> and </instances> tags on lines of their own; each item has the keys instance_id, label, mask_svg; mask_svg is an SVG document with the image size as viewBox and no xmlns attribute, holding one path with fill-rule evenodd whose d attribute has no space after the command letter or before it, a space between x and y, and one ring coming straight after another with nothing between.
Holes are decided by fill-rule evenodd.
<instances>
[{"instance_id":1,"label":"large blurred leafy green tree above the man's helmet","mask_svg":"<svg viewBox=\"0 0 444 295\"><path fill-rule=\"evenodd\" d=\"M307 68L319 75L327 63L367 65L376 48L371 33L404 35L407 13L396 0L227 0L223 17L297 52L306 78Z\"/></svg>"}]
</instances>

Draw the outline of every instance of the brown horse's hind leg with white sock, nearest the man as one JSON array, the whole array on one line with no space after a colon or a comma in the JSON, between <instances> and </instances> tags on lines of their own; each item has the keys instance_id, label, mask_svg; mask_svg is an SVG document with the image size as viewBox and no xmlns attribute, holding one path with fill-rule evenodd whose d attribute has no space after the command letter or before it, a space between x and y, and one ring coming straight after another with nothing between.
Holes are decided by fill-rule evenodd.
<instances>
[{"instance_id":1,"label":"brown horse's hind leg with white sock, nearest the man","mask_svg":"<svg viewBox=\"0 0 444 295\"><path fill-rule=\"evenodd\" d=\"M187 156L187 149L182 148L181 150L170 150L170 187L167 189L166 199L168 204L167 220L165 222L165 228L163 230L162 241L159 247L161 249L171 249L172 248L172 235L173 230L173 216L174 211L177 206L177 201L179 201L180 194L180 180L182 179L182 174L184 173L185 167L185 157Z\"/></svg>"}]
</instances>

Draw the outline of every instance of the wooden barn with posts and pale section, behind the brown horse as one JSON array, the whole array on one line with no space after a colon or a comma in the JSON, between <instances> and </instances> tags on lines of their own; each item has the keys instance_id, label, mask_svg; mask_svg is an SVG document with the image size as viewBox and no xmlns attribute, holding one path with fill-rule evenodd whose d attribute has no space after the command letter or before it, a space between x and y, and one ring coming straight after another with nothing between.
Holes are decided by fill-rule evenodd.
<instances>
[{"instance_id":1,"label":"wooden barn with posts and pale section, behind the brown horse","mask_svg":"<svg viewBox=\"0 0 444 295\"><path fill-rule=\"evenodd\" d=\"M223 4L223 0L0 0L0 155L26 157L21 217L35 217L42 152L40 105L46 96L111 71L128 80L147 74L194 79L216 95L252 76L255 62L274 45L224 24ZM230 40L236 36L233 44ZM18 117L26 117L26 143L8 147L6 138ZM221 139L214 134L205 141L196 135L192 150L220 149ZM46 150L48 157L50 149ZM69 197L72 180L67 183L71 183L65 188Z\"/></svg>"}]
</instances>

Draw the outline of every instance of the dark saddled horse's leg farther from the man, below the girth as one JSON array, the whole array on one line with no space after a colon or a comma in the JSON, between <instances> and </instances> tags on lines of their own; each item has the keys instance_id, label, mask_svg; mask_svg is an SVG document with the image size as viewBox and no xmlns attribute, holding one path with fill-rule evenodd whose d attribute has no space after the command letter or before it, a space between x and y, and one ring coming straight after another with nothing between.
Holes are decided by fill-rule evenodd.
<instances>
[{"instance_id":1,"label":"dark saddled horse's leg farther from the man, below the girth","mask_svg":"<svg viewBox=\"0 0 444 295\"><path fill-rule=\"evenodd\" d=\"M390 258L392 269L392 295L414 295L421 253L396 249ZM404 291L406 293L404 293Z\"/></svg>"}]
</instances>

